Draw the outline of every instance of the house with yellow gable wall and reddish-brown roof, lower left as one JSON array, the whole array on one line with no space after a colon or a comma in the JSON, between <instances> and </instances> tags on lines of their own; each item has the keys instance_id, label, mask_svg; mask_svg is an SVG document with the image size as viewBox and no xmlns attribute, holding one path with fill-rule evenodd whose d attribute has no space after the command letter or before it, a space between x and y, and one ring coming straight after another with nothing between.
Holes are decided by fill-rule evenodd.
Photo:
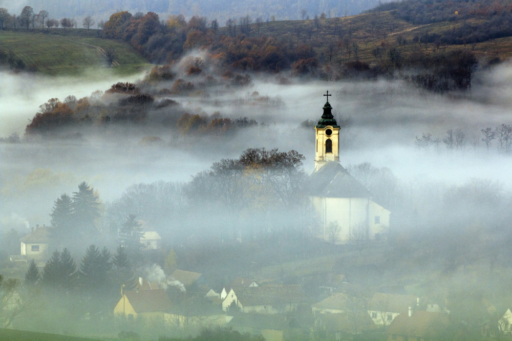
<instances>
[{"instance_id":1,"label":"house with yellow gable wall and reddish-brown roof, lower left","mask_svg":"<svg viewBox=\"0 0 512 341\"><path fill-rule=\"evenodd\" d=\"M123 293L114 307L114 315L121 316L128 322L137 318L145 321L164 323L165 313L172 308L172 303L163 289L130 290Z\"/></svg>"}]
</instances>

